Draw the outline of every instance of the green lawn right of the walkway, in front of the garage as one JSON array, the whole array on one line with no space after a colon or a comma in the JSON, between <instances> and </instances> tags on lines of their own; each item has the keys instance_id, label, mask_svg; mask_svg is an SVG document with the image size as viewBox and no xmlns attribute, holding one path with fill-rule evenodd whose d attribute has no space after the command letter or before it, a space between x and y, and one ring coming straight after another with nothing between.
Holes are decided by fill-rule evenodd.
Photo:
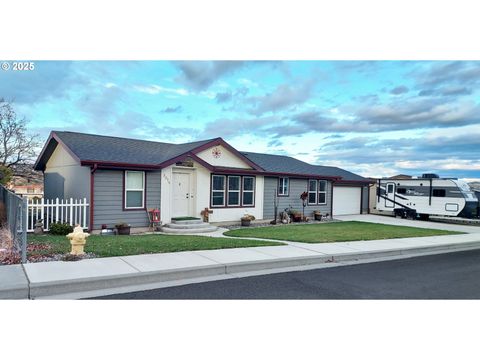
<instances>
[{"instance_id":1,"label":"green lawn right of the walkway, in front of the garage","mask_svg":"<svg viewBox=\"0 0 480 360\"><path fill-rule=\"evenodd\" d=\"M288 240L306 243L379 240L455 234L463 233L435 229L420 229L408 226L373 224L360 221L243 228L230 230L224 233L224 235L234 237Z\"/></svg>"}]
</instances>

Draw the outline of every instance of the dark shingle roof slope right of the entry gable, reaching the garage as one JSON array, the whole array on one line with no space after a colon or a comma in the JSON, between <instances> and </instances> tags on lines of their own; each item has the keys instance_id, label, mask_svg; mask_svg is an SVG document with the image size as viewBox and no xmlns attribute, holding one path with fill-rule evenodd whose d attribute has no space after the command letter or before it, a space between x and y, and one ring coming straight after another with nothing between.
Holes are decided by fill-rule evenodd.
<instances>
[{"instance_id":1,"label":"dark shingle roof slope right of the entry gable, reaching the garage","mask_svg":"<svg viewBox=\"0 0 480 360\"><path fill-rule=\"evenodd\" d=\"M304 161L284 156L259 154L252 152L241 152L254 163L260 165L267 172L319 175L319 176L340 176L346 181L368 181L364 177L351 173L350 171L340 169L334 166L312 165Z\"/></svg>"}]
</instances>

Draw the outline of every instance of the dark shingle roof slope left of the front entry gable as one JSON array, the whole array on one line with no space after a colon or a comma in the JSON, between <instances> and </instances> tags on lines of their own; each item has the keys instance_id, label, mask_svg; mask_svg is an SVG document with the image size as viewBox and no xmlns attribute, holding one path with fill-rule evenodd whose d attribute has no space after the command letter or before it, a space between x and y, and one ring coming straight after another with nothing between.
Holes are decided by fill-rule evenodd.
<instances>
[{"instance_id":1,"label":"dark shingle roof slope left of the front entry gable","mask_svg":"<svg viewBox=\"0 0 480 360\"><path fill-rule=\"evenodd\" d=\"M141 165L158 165L212 141L171 144L69 131L55 131L55 134L82 161Z\"/></svg>"}]
</instances>

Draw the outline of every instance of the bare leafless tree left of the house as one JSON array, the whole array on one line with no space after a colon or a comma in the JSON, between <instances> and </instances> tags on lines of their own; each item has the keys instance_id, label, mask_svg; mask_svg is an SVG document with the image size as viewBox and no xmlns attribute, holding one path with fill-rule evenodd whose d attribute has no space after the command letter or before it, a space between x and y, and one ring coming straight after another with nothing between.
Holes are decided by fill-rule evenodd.
<instances>
[{"instance_id":1,"label":"bare leafless tree left of the house","mask_svg":"<svg viewBox=\"0 0 480 360\"><path fill-rule=\"evenodd\" d=\"M12 104L0 98L0 166L14 170L31 164L39 145L38 135L27 134L25 118L17 118Z\"/></svg>"}]
</instances>

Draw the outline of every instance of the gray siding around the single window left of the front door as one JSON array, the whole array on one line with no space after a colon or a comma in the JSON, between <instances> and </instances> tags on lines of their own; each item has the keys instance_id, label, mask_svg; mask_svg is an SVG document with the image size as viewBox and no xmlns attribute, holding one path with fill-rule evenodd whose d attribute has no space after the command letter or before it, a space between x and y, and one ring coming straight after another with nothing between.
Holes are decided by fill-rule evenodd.
<instances>
[{"instance_id":1,"label":"gray siding around the single window left of the front door","mask_svg":"<svg viewBox=\"0 0 480 360\"><path fill-rule=\"evenodd\" d=\"M145 210L123 210L123 171L97 170L94 187L94 229L100 229L102 224L108 227L118 222L126 222L132 227L149 225ZM146 206L160 209L160 171L147 171Z\"/></svg>"}]
</instances>

